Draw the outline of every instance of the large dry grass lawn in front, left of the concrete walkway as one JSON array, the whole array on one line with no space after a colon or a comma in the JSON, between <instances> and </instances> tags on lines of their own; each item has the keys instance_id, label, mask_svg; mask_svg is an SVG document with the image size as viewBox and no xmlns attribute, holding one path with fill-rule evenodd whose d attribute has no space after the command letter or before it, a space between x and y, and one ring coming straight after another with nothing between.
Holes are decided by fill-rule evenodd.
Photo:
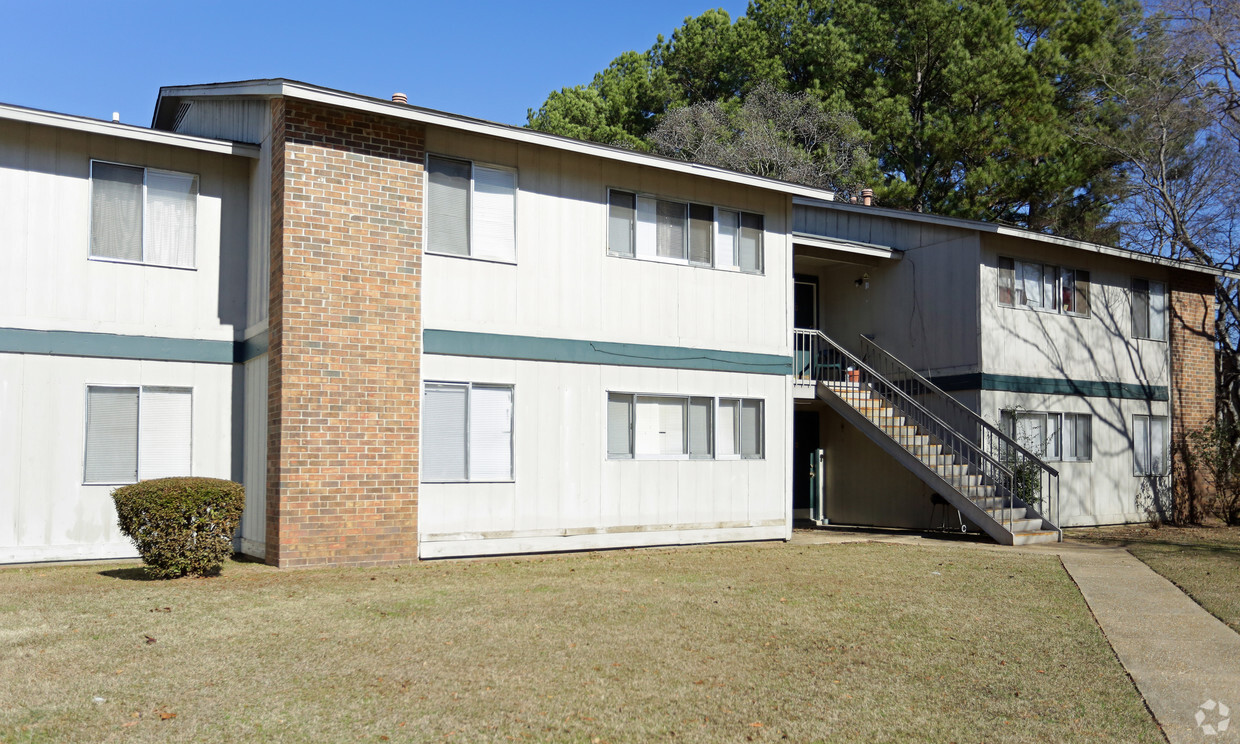
<instances>
[{"instance_id":1,"label":"large dry grass lawn in front, left of the concrete walkway","mask_svg":"<svg viewBox=\"0 0 1240 744\"><path fill-rule=\"evenodd\" d=\"M1162 740L1053 557L773 543L141 575L0 570L0 742Z\"/></svg>"}]
</instances>

